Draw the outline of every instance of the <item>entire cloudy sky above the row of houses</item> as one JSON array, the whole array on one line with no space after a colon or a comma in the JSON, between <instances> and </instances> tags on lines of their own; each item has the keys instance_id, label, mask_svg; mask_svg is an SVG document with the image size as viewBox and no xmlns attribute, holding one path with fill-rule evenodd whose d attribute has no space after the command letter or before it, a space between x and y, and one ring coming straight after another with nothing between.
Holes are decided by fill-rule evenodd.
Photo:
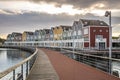
<instances>
[{"instance_id":1,"label":"entire cloudy sky above the row of houses","mask_svg":"<svg viewBox=\"0 0 120 80\"><path fill-rule=\"evenodd\" d=\"M12 32L35 31L73 21L98 19L112 12L113 36L120 35L120 0L0 0L0 37Z\"/></svg>"}]
</instances>

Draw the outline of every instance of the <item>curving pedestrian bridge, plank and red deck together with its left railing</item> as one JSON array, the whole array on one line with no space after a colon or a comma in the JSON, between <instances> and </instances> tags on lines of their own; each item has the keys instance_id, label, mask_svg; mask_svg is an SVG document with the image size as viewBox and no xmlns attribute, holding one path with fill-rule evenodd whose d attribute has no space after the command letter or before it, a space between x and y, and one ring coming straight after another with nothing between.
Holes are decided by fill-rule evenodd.
<instances>
[{"instance_id":1,"label":"curving pedestrian bridge, plank and red deck together with its left railing","mask_svg":"<svg viewBox=\"0 0 120 80\"><path fill-rule=\"evenodd\" d=\"M81 54L79 53L77 55ZM89 59L90 56L93 57L89 54L84 55L89 56ZM80 57L85 59L84 56ZM33 64L33 66L31 64ZM18 67L21 68L20 75L17 74L16 69ZM24 70L26 71L25 74ZM0 80L6 80L4 77L10 72L12 72L13 77L9 80L120 80L120 78L101 71L100 69L97 69L97 67L93 68L89 65L73 60L63 55L61 52L45 48L38 48L27 59L4 72L1 72Z\"/></svg>"}]
</instances>

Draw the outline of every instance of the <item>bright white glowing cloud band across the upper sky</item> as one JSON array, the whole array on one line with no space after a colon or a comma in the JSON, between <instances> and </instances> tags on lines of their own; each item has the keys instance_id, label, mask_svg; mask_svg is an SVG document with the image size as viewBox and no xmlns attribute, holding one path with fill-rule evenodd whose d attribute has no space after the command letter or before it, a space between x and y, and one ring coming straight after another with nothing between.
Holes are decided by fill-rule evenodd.
<instances>
[{"instance_id":1,"label":"bright white glowing cloud band across the upper sky","mask_svg":"<svg viewBox=\"0 0 120 80\"><path fill-rule=\"evenodd\" d=\"M87 13L92 13L97 16L103 16L105 14L106 5L103 3L96 3L88 8L74 8L73 5L63 4L59 7L55 3L39 2L34 3L30 1L0 1L0 13L1 14L23 14L23 13L48 13L48 14L68 14L68 15L85 15ZM7 12L9 11L9 12ZM120 10L112 9L113 13Z\"/></svg>"}]
</instances>

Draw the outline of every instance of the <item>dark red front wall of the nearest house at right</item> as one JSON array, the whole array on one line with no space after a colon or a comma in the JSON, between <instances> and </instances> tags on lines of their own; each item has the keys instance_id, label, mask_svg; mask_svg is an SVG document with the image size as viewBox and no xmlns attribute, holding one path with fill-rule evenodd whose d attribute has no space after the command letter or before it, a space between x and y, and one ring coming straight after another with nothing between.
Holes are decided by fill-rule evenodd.
<instances>
[{"instance_id":1,"label":"dark red front wall of the nearest house at right","mask_svg":"<svg viewBox=\"0 0 120 80\"><path fill-rule=\"evenodd\" d=\"M109 27L90 27L90 46L95 47L96 35L102 35L107 40L107 47L109 47Z\"/></svg>"}]
</instances>

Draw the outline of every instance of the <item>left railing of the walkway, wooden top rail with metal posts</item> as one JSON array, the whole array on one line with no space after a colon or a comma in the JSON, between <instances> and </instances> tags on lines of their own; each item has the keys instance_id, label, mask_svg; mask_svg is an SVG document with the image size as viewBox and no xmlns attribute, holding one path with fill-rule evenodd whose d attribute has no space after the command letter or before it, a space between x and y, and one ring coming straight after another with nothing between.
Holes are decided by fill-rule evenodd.
<instances>
[{"instance_id":1,"label":"left railing of the walkway, wooden top rail with metal posts","mask_svg":"<svg viewBox=\"0 0 120 80\"><path fill-rule=\"evenodd\" d=\"M37 52L38 49L36 49L36 51L31 56L24 59L20 63L1 72L0 80L25 80L34 64Z\"/></svg>"}]
</instances>

